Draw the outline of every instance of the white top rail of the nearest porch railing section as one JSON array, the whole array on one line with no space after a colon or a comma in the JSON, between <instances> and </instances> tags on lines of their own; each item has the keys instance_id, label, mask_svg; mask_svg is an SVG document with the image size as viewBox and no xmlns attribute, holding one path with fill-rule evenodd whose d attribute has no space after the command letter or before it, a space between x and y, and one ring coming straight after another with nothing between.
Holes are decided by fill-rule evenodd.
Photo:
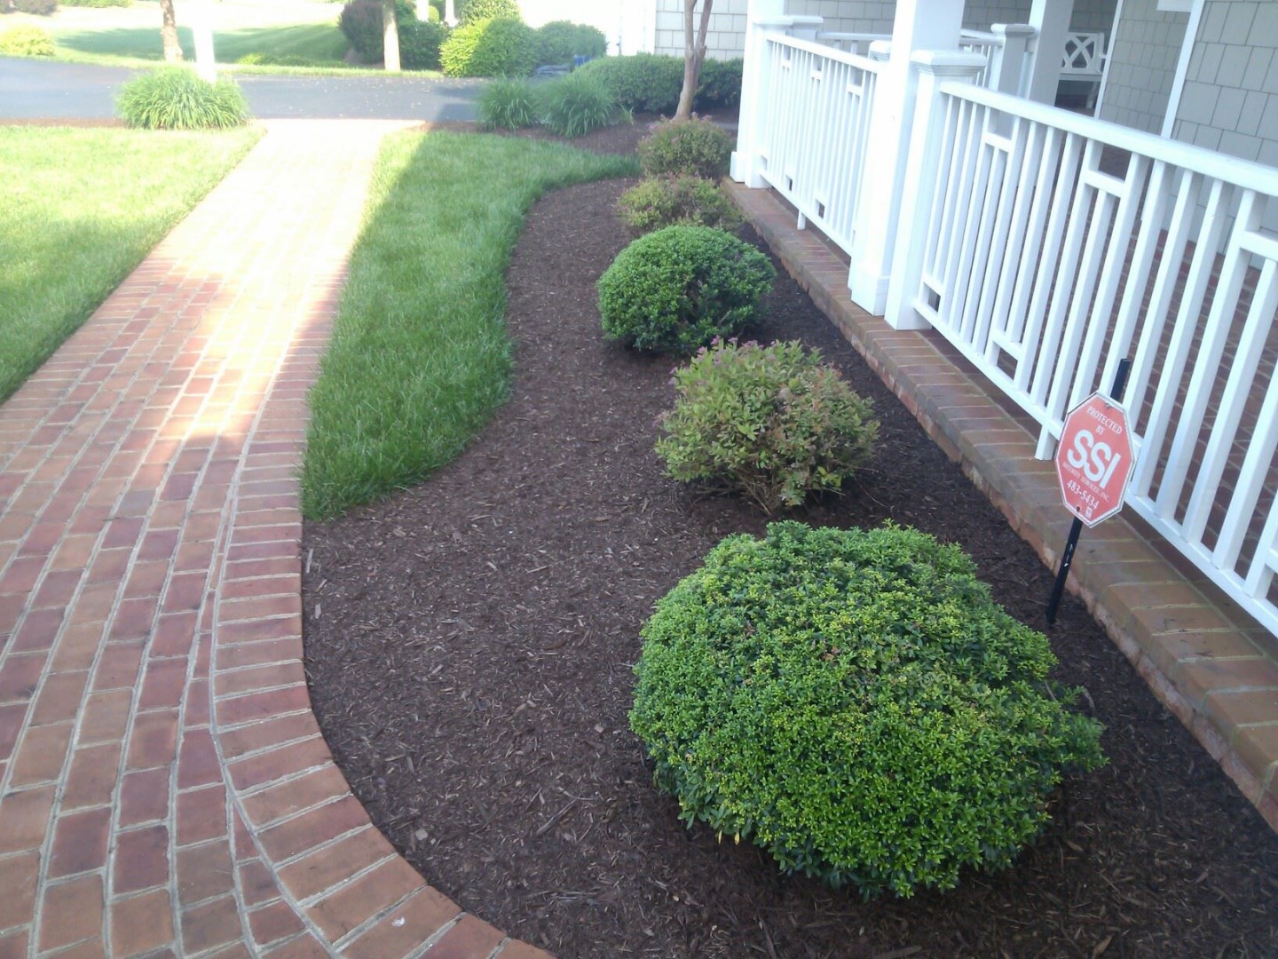
<instances>
[{"instance_id":1,"label":"white top rail of the nearest porch railing section","mask_svg":"<svg viewBox=\"0 0 1278 959\"><path fill-rule=\"evenodd\" d=\"M1013 116L1021 116L1033 123L1056 127L1066 133L1076 133L1080 137L1099 141L1105 146L1162 160L1183 170L1213 176L1243 189L1278 196L1278 169L1273 166L1264 166L1250 160L1238 160L1174 139L1163 139L1153 133L1135 130L1130 127L1120 127L1116 123L1097 120L1068 110L1058 110L1054 106L1038 104L1033 100L997 93L971 83L943 83L941 84L941 92Z\"/></svg>"}]
</instances>

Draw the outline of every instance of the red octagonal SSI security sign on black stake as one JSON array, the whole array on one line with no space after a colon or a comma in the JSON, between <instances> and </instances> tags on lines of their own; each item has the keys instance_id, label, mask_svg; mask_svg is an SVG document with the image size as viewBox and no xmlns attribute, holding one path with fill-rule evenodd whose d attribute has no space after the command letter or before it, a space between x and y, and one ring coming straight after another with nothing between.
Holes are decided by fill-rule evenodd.
<instances>
[{"instance_id":1,"label":"red octagonal SSI security sign on black stake","mask_svg":"<svg viewBox=\"0 0 1278 959\"><path fill-rule=\"evenodd\" d=\"M1135 465L1127 410L1093 393L1065 418L1056 474L1066 508L1093 527L1122 509Z\"/></svg>"}]
</instances>

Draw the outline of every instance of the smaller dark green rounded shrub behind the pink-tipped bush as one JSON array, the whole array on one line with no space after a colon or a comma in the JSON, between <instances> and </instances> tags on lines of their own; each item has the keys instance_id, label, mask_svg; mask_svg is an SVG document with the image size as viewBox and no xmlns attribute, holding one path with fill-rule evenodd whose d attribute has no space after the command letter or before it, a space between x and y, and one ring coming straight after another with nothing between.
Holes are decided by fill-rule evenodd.
<instances>
[{"instance_id":1,"label":"smaller dark green rounded shrub behind the pink-tipped bush","mask_svg":"<svg viewBox=\"0 0 1278 959\"><path fill-rule=\"evenodd\" d=\"M691 353L755 318L777 271L709 226L667 226L622 249L599 277L603 334L635 349Z\"/></svg>"}]
</instances>

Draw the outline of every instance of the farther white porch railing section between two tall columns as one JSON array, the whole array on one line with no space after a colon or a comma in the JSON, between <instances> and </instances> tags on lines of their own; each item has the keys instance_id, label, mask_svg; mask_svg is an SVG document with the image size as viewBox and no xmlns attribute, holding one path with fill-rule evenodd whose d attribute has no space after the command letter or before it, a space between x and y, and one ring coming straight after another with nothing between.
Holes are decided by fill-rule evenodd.
<instances>
[{"instance_id":1,"label":"farther white porch railing section between two tall columns","mask_svg":"<svg viewBox=\"0 0 1278 959\"><path fill-rule=\"evenodd\" d=\"M883 64L783 35L763 43L758 173L843 249L856 224L874 87Z\"/></svg>"}]
</instances>

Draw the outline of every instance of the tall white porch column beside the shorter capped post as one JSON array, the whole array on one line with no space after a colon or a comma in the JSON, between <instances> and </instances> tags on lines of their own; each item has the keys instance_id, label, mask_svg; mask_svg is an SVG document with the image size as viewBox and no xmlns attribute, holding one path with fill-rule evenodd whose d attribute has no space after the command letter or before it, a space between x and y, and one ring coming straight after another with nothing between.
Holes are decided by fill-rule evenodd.
<instances>
[{"instance_id":1,"label":"tall white porch column beside the shorter capped post","mask_svg":"<svg viewBox=\"0 0 1278 959\"><path fill-rule=\"evenodd\" d=\"M847 277L852 300L879 316L887 303L897 211L905 183L905 160L912 125L916 50L956 50L964 0L900 0L892 28L892 54L874 92L873 144L856 217L856 252Z\"/></svg>"}]
</instances>

